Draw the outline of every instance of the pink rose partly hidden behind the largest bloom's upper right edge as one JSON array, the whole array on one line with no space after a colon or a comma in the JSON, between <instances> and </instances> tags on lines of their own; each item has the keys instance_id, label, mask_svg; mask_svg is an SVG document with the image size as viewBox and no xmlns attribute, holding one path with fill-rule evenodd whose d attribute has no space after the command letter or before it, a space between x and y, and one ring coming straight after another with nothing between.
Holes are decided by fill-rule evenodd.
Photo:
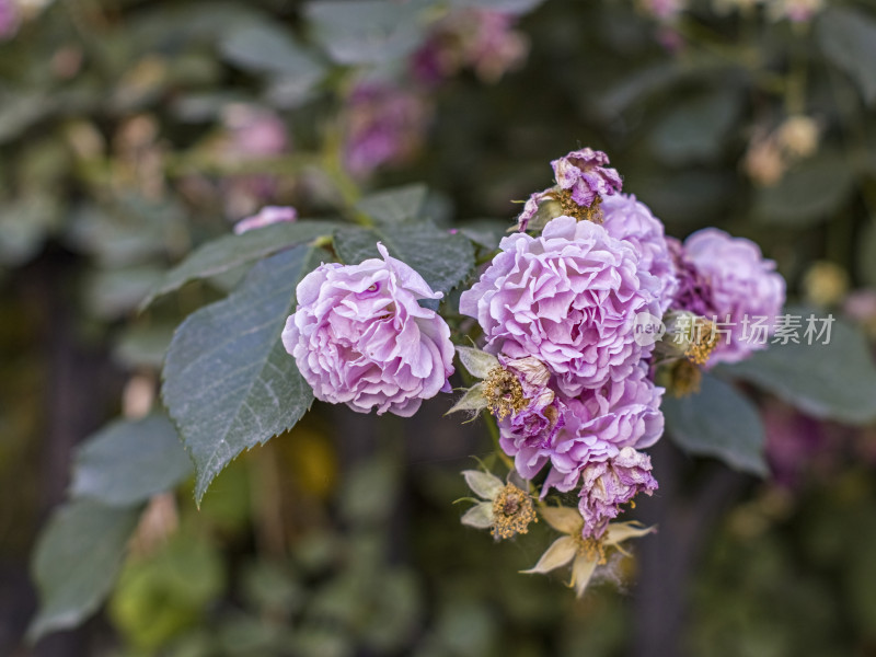
<instances>
[{"instance_id":1,"label":"pink rose partly hidden behind the largest bloom's upper right edge","mask_svg":"<svg viewBox=\"0 0 876 657\"><path fill-rule=\"evenodd\" d=\"M678 287L662 221L644 203L627 194L602 199L602 226L612 238L630 242L639 265L660 281L660 311L666 312Z\"/></svg>"}]
</instances>

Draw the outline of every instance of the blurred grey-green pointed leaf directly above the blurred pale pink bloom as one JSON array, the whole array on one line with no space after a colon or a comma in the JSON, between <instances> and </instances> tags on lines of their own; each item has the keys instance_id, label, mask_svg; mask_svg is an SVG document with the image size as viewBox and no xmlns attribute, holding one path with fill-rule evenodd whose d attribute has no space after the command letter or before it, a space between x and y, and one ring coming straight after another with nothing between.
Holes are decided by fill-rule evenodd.
<instances>
[{"instance_id":1,"label":"blurred grey-green pointed leaf directly above the blurred pale pink bloom","mask_svg":"<svg viewBox=\"0 0 876 657\"><path fill-rule=\"evenodd\" d=\"M324 73L324 66L311 53L272 23L250 23L234 30L220 49L231 64L256 73L306 78L311 84Z\"/></svg>"}]
</instances>

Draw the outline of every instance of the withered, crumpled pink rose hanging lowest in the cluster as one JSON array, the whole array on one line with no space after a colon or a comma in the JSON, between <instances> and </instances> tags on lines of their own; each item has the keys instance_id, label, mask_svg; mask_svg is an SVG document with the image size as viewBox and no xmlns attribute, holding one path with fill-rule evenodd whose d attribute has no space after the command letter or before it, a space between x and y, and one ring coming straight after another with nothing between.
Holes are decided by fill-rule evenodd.
<instances>
[{"instance_id":1,"label":"withered, crumpled pink rose hanging lowest in the cluster","mask_svg":"<svg viewBox=\"0 0 876 657\"><path fill-rule=\"evenodd\" d=\"M632 447L623 448L611 459L588 464L581 479L578 510L584 517L583 534L595 539L606 532L609 520L618 517L622 504L639 493L650 495L657 489L650 458Z\"/></svg>"}]
</instances>

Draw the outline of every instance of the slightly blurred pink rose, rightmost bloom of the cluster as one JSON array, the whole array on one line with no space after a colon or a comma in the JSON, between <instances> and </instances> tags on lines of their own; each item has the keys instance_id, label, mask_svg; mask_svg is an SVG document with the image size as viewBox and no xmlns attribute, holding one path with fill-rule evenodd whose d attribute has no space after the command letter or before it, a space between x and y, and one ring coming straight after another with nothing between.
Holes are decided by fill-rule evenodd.
<instances>
[{"instance_id":1,"label":"slightly blurred pink rose, rightmost bloom of the cluster","mask_svg":"<svg viewBox=\"0 0 876 657\"><path fill-rule=\"evenodd\" d=\"M785 302L785 279L775 272L775 263L764 260L752 241L733 238L716 228L690 235L684 241L684 255L707 283L718 323L729 322L721 326L729 331L729 336L718 335L708 365L738 362L764 349L766 341L758 339L754 326L760 323L772 334Z\"/></svg>"}]
</instances>

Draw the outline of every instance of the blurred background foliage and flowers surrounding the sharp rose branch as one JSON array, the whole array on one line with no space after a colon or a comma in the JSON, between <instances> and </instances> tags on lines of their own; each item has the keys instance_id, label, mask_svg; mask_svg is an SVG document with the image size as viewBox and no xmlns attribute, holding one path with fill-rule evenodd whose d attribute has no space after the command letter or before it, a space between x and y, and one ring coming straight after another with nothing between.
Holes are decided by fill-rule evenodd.
<instances>
[{"instance_id":1,"label":"blurred background foliage and flowers surrounding the sharp rose branch","mask_svg":"<svg viewBox=\"0 0 876 657\"><path fill-rule=\"evenodd\" d=\"M510 16L474 54L480 23L453 18L473 5ZM459 525L459 471L489 448L440 422L447 400L404 422L318 405L200 510L184 456L145 463L131 494L95 464L136 446L94 435L122 414L175 436L147 416L173 326L243 269L138 304L233 221L349 216L424 181L431 218L488 249L578 145L669 233L757 240L796 301L872 345L872 3L0 0L0 653L876 655L876 428L764 394L772 477L664 441L638 509L659 534L619 565L621 592L579 602L517 574L537 540ZM46 527L70 550L34 569L81 588L43 630L71 629L28 644Z\"/></svg>"}]
</instances>

